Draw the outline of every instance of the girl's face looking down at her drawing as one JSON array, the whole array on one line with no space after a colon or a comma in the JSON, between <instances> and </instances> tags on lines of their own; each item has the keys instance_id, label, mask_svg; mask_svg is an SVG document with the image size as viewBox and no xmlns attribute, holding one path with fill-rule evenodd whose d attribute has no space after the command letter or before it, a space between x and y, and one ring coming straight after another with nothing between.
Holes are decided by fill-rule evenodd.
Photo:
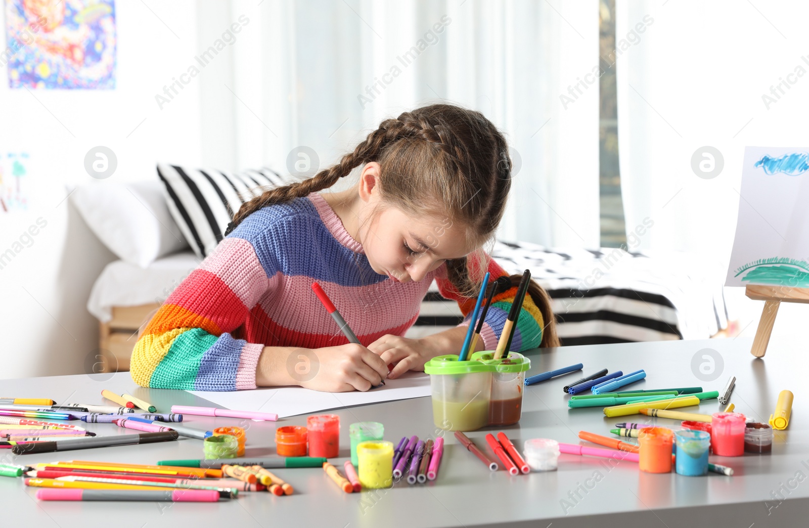
<instances>
[{"instance_id":1,"label":"girl's face looking down at her drawing","mask_svg":"<svg viewBox=\"0 0 809 528\"><path fill-rule=\"evenodd\" d=\"M368 207L375 201L371 198L363 209L372 211ZM476 249L468 245L464 228L450 219L413 218L394 207L361 221L358 235L371 268L400 283L424 279L446 260Z\"/></svg>"}]
</instances>

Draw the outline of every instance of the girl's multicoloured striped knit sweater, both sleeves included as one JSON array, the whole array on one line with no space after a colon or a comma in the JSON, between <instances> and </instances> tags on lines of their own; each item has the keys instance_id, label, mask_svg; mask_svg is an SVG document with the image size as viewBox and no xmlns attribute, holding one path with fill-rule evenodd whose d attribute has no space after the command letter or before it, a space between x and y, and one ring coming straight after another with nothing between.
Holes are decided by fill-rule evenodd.
<instances>
[{"instance_id":1,"label":"girl's multicoloured striped knit sweater, both sleeves included","mask_svg":"<svg viewBox=\"0 0 809 528\"><path fill-rule=\"evenodd\" d=\"M491 280L506 275L493 260ZM256 388L265 346L332 347L348 343L311 283L317 281L366 347L384 334L403 335L436 280L458 301L468 325L475 299L458 295L446 265L421 281L377 274L320 194L264 207L226 236L172 292L132 352L132 379L144 387L183 390ZM495 296L481 339L493 350L516 287ZM542 315L526 296L513 351L538 347Z\"/></svg>"}]
</instances>

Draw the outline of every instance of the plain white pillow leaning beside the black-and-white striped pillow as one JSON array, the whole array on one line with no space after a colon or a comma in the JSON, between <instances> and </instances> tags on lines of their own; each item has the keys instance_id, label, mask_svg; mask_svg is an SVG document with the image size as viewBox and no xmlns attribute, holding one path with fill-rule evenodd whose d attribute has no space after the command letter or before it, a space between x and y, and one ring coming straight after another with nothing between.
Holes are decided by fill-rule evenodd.
<instances>
[{"instance_id":1,"label":"plain white pillow leaning beside the black-and-white striped pillow","mask_svg":"<svg viewBox=\"0 0 809 528\"><path fill-rule=\"evenodd\" d=\"M130 264L146 267L163 255L188 248L157 179L81 185L70 201L95 236Z\"/></svg>"}]
</instances>

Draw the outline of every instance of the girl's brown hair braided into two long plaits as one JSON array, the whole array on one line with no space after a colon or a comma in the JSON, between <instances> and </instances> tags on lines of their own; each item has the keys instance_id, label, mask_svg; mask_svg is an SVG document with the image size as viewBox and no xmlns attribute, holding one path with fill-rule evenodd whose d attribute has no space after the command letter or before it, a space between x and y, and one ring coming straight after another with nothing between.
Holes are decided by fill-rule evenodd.
<instances>
[{"instance_id":1,"label":"girl's brown hair braided into two long plaits","mask_svg":"<svg viewBox=\"0 0 809 528\"><path fill-rule=\"evenodd\" d=\"M508 145L482 113L453 104L431 104L382 121L332 167L245 202L225 235L262 207L328 189L371 161L380 166L383 207L461 224L475 247L493 240L511 187ZM447 260L447 279L461 296L477 296L488 259L488 253L477 249L467 257ZM549 306L540 308L543 315L550 313ZM553 326L553 315L549 324Z\"/></svg>"}]
</instances>

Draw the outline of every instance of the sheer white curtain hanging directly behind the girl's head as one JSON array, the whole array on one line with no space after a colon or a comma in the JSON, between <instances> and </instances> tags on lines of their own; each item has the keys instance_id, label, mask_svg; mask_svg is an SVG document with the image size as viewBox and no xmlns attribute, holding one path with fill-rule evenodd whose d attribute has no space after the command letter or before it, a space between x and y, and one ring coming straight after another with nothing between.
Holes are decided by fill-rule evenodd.
<instances>
[{"instance_id":1,"label":"sheer white curtain hanging directly behind the girl's head","mask_svg":"<svg viewBox=\"0 0 809 528\"><path fill-rule=\"evenodd\" d=\"M200 11L211 34L250 19L202 79L206 162L286 170L304 146L324 168L384 118L451 101L489 117L519 159L500 238L598 245L598 85L561 98L598 65L596 0L256 3Z\"/></svg>"}]
</instances>

